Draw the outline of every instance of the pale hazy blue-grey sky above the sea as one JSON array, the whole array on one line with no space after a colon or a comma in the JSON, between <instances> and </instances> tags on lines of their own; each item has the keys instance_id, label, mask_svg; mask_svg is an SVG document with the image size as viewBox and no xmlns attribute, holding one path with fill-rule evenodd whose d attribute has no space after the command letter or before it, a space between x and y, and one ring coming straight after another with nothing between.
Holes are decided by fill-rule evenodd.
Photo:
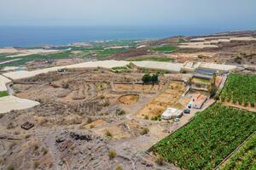
<instances>
[{"instance_id":1,"label":"pale hazy blue-grey sky above the sea","mask_svg":"<svg viewBox=\"0 0 256 170\"><path fill-rule=\"evenodd\" d=\"M256 0L0 0L0 26L256 29Z\"/></svg>"}]
</instances>

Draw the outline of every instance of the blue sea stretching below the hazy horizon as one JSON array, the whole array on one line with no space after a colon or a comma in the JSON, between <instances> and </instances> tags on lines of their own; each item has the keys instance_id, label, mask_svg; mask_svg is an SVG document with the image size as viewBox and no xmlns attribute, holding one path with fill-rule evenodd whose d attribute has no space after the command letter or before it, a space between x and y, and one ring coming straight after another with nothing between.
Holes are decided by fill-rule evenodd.
<instances>
[{"instance_id":1,"label":"blue sea stretching below the hazy horizon","mask_svg":"<svg viewBox=\"0 0 256 170\"><path fill-rule=\"evenodd\" d=\"M179 35L206 35L218 29L168 26L0 26L0 47L67 45L71 42L118 39L155 39Z\"/></svg>"}]
</instances>

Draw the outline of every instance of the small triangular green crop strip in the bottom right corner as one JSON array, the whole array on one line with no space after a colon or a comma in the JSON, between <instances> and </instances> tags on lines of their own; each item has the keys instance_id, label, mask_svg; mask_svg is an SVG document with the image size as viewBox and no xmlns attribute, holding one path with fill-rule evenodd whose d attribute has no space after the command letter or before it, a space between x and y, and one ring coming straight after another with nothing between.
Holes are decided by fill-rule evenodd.
<instances>
[{"instance_id":1,"label":"small triangular green crop strip in the bottom right corner","mask_svg":"<svg viewBox=\"0 0 256 170\"><path fill-rule=\"evenodd\" d=\"M226 161L220 169L256 169L256 134L248 139L241 148Z\"/></svg>"}]
</instances>

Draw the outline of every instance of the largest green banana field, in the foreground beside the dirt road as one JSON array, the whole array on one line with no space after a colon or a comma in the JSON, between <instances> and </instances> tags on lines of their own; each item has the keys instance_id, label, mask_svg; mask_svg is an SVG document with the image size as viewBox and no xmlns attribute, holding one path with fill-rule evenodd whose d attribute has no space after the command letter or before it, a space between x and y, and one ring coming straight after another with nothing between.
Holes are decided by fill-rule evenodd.
<instances>
[{"instance_id":1,"label":"largest green banana field, in the foreground beside the dirt road","mask_svg":"<svg viewBox=\"0 0 256 170\"><path fill-rule=\"evenodd\" d=\"M151 150L184 169L212 169L256 130L255 124L255 113L217 103Z\"/></svg>"}]
</instances>

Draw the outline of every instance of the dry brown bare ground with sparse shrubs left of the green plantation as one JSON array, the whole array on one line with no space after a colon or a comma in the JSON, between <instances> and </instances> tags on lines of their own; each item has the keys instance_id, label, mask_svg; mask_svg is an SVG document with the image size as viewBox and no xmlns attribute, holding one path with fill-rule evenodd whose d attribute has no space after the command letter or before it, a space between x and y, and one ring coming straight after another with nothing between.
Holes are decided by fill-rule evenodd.
<instances>
[{"instance_id":1,"label":"dry brown bare ground with sparse shrubs left of the green plantation","mask_svg":"<svg viewBox=\"0 0 256 170\"><path fill-rule=\"evenodd\" d=\"M143 85L138 83L143 74L81 69L15 82L16 96L37 100L40 105L1 117L0 167L177 169L169 164L160 167L145 153L168 135L172 122L152 122L137 118L137 114L158 95L163 99L157 98L157 102L168 103L166 99L172 95L178 98L174 88L183 83L172 82L170 91L169 80L177 75L164 75L159 84ZM24 122L34 127L22 129ZM147 134L142 133L145 127ZM115 150L117 156L109 158L109 150Z\"/></svg>"}]
</instances>

